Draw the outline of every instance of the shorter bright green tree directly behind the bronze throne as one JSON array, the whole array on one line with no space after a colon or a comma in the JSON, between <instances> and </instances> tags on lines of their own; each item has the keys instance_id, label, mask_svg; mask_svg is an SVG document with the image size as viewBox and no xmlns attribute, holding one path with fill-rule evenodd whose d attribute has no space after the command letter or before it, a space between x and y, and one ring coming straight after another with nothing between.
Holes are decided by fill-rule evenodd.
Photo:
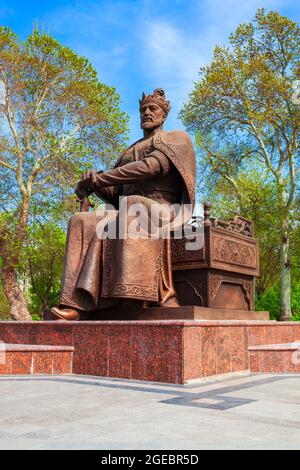
<instances>
[{"instance_id":1,"label":"shorter bright green tree directly behind the bronze throne","mask_svg":"<svg viewBox=\"0 0 300 470\"><path fill-rule=\"evenodd\" d=\"M203 155L202 162L205 163ZM205 199L212 203L213 216L228 219L236 214L254 222L255 238L259 241L260 277L257 294L264 293L278 282L280 270L280 223L277 218L277 192L261 168L240 170L235 186L216 171L205 173Z\"/></svg>"}]
</instances>

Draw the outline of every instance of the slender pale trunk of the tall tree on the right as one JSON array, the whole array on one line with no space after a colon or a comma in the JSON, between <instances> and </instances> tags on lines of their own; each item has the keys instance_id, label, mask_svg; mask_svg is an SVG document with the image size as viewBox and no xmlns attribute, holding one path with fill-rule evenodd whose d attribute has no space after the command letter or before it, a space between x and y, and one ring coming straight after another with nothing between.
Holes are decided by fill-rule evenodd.
<instances>
[{"instance_id":1,"label":"slender pale trunk of the tall tree on the right","mask_svg":"<svg viewBox=\"0 0 300 470\"><path fill-rule=\"evenodd\" d=\"M291 268L289 237L283 235L280 247L280 321L291 321Z\"/></svg>"}]
</instances>

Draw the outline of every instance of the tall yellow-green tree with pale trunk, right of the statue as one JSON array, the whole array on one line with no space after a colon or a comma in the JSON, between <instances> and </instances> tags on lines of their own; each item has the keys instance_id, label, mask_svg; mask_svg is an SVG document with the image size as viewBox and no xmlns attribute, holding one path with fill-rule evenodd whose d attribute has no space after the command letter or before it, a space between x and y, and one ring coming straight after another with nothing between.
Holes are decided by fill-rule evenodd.
<instances>
[{"instance_id":1,"label":"tall yellow-green tree with pale trunk, right of the statue","mask_svg":"<svg viewBox=\"0 0 300 470\"><path fill-rule=\"evenodd\" d=\"M288 18L258 10L252 23L240 25L230 36L229 47L215 48L181 111L210 168L236 191L239 169L261 163L273 182L280 226L281 320L291 318L289 243L299 217L299 100L294 89L299 31Z\"/></svg>"}]
</instances>

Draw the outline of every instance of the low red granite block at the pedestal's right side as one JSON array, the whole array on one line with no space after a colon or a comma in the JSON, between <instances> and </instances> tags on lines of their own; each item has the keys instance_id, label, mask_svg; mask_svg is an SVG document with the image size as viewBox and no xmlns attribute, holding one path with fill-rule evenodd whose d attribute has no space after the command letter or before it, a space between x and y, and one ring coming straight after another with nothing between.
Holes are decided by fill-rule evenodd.
<instances>
[{"instance_id":1,"label":"low red granite block at the pedestal's right side","mask_svg":"<svg viewBox=\"0 0 300 470\"><path fill-rule=\"evenodd\" d=\"M300 341L249 346L250 372L300 373Z\"/></svg>"}]
</instances>

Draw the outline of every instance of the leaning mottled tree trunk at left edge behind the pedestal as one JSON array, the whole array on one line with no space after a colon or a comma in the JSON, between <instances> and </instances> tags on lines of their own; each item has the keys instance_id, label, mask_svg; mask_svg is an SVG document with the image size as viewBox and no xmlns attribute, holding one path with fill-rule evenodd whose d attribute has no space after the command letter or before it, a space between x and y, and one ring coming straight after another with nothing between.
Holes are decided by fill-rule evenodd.
<instances>
[{"instance_id":1,"label":"leaning mottled tree trunk at left edge behind the pedestal","mask_svg":"<svg viewBox=\"0 0 300 470\"><path fill-rule=\"evenodd\" d=\"M14 320L31 321L26 300L17 281L17 275L12 267L3 266L1 269L3 290L7 297L10 315Z\"/></svg>"}]
</instances>

